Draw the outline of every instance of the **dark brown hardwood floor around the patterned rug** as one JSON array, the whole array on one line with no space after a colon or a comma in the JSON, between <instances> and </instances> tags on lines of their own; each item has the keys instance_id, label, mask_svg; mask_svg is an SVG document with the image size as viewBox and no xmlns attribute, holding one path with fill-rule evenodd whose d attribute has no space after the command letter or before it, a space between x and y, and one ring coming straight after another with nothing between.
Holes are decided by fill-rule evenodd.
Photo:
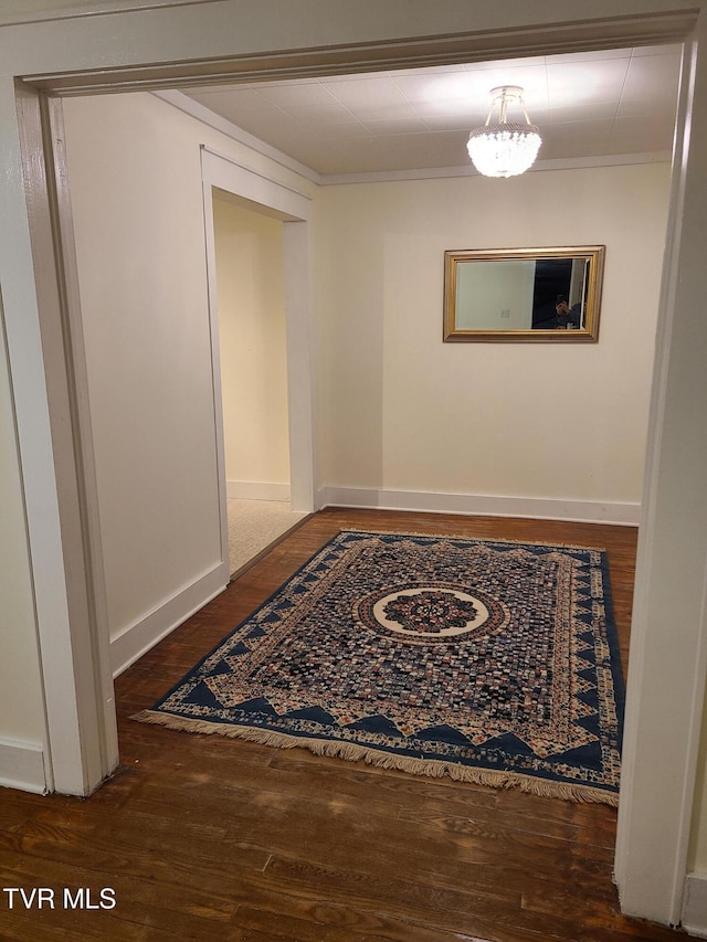
<instances>
[{"instance_id":1,"label":"dark brown hardwood floor around the patterned rug","mask_svg":"<svg viewBox=\"0 0 707 942\"><path fill-rule=\"evenodd\" d=\"M622 942L616 812L134 722L342 527L568 542L609 551L624 666L627 527L329 509L309 518L116 681L122 769L91 798L0 792L11 940ZM66 909L63 888L93 909ZM113 893L101 890L109 889ZM115 906L107 908L115 899ZM102 908L105 907L105 908Z\"/></svg>"}]
</instances>

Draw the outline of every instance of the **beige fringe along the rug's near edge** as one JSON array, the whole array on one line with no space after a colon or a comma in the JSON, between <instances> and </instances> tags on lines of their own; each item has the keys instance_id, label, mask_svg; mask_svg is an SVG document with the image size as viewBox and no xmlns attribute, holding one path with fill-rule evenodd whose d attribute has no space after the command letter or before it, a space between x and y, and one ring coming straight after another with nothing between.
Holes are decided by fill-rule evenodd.
<instances>
[{"instance_id":1,"label":"beige fringe along the rug's near edge","mask_svg":"<svg viewBox=\"0 0 707 942\"><path fill-rule=\"evenodd\" d=\"M208 720L188 719L170 716L156 710L141 710L131 719L141 723L154 723L168 729L198 732L207 735L218 733L231 739L243 739L260 745L276 749L308 749L315 755L326 755L345 759L347 762L366 762L379 769L395 769L412 775L425 775L442 779L445 775L458 782L473 782L476 785L488 785L493 788L519 788L532 795L546 798L561 798L568 802L592 802L618 807L619 795L594 788L591 785L576 785L567 782L553 782L548 779L536 779L532 775L521 775L517 772L494 771L461 765L455 762L444 762L434 759L414 759L410 755L397 755L382 752L370 747L356 745L350 742L331 740L305 739L287 733L260 730L250 727L229 726L209 722Z\"/></svg>"}]
</instances>

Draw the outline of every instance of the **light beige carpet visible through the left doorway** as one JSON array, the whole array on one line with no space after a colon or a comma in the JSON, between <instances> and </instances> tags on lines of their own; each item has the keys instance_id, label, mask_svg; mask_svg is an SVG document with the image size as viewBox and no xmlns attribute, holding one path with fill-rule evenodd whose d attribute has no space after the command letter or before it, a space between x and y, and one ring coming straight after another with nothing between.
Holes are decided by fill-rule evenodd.
<instances>
[{"instance_id":1,"label":"light beige carpet visible through the left doorway","mask_svg":"<svg viewBox=\"0 0 707 942\"><path fill-rule=\"evenodd\" d=\"M289 509L288 500L242 500L229 497L231 573L263 552L307 514Z\"/></svg>"}]
</instances>

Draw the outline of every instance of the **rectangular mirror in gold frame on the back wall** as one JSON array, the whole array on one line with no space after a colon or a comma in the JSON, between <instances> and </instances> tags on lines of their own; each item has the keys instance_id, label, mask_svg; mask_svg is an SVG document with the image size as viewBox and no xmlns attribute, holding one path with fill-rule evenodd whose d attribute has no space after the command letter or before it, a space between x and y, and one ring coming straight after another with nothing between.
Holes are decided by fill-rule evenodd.
<instances>
[{"instance_id":1,"label":"rectangular mirror in gold frame on the back wall","mask_svg":"<svg viewBox=\"0 0 707 942\"><path fill-rule=\"evenodd\" d=\"M444 340L597 342L605 246L444 253Z\"/></svg>"}]
</instances>

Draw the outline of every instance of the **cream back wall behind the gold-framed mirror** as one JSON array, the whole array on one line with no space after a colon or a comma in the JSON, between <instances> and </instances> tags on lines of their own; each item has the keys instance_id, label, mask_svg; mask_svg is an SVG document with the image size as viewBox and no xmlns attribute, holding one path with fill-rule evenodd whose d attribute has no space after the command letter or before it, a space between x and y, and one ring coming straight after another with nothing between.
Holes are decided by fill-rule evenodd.
<instances>
[{"instance_id":1,"label":"cream back wall behind the gold-framed mirror","mask_svg":"<svg viewBox=\"0 0 707 942\"><path fill-rule=\"evenodd\" d=\"M637 508L668 178L653 165L325 188L326 481ZM606 245L598 343L442 342L445 250L567 244Z\"/></svg>"}]
</instances>

